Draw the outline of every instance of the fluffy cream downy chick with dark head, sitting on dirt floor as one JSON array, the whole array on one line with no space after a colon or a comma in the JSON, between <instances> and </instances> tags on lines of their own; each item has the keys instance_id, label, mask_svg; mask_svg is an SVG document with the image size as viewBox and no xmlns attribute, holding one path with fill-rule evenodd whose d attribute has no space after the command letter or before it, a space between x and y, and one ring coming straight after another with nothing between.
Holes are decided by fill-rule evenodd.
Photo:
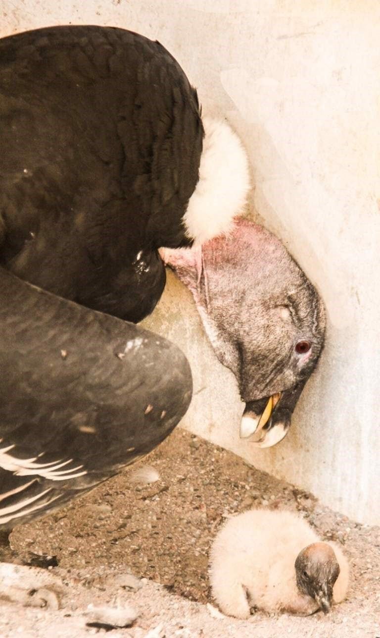
<instances>
[{"instance_id":1,"label":"fluffy cream downy chick with dark head, sitting on dirt floor","mask_svg":"<svg viewBox=\"0 0 380 638\"><path fill-rule=\"evenodd\" d=\"M299 616L346 596L347 559L321 542L300 516L286 510L249 510L219 530L210 553L212 595L221 611L249 618L251 607Z\"/></svg>"}]
</instances>

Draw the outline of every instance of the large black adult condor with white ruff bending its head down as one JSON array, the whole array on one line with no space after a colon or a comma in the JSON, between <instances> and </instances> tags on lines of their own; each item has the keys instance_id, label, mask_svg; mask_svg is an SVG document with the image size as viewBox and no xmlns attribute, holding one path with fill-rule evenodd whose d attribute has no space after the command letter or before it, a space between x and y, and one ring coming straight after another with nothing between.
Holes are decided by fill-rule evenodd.
<instances>
[{"instance_id":1,"label":"large black adult condor with white ruff bending its head down","mask_svg":"<svg viewBox=\"0 0 380 638\"><path fill-rule=\"evenodd\" d=\"M281 440L323 346L323 305L281 243L241 217L245 151L202 119L175 59L111 27L3 38L0 118L4 545L186 412L186 358L133 325L163 292L164 262L237 377L241 435Z\"/></svg>"}]
</instances>

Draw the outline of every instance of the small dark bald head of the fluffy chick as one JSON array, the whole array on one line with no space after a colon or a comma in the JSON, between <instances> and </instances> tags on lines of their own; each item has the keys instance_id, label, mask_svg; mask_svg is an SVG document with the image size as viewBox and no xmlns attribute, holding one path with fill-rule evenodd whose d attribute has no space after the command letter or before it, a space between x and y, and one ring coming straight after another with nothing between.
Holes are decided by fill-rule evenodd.
<instances>
[{"instance_id":1,"label":"small dark bald head of the fluffy chick","mask_svg":"<svg viewBox=\"0 0 380 638\"><path fill-rule=\"evenodd\" d=\"M295 561L296 581L301 593L311 596L327 614L332 606L333 586L340 567L327 543L312 543L298 554Z\"/></svg>"}]
</instances>

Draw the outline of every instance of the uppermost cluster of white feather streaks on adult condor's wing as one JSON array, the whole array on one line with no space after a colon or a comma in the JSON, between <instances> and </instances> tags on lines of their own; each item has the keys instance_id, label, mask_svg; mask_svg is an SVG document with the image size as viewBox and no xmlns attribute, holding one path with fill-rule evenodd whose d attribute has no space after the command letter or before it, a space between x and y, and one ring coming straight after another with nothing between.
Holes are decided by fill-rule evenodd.
<instances>
[{"instance_id":1,"label":"uppermost cluster of white feather streaks on adult condor's wing","mask_svg":"<svg viewBox=\"0 0 380 638\"><path fill-rule=\"evenodd\" d=\"M0 443L1 441L2 439L0 439ZM77 465L69 470L61 470L62 467L72 463L73 459L68 459L68 461L59 459L59 461L52 461L52 463L36 463L39 456L42 456L41 454L31 459L17 459L17 457L8 454L14 447L15 445L9 445L0 448L0 466L19 477L38 475L48 480L69 480L87 474L86 470L77 471L82 470L83 465Z\"/></svg>"}]
</instances>

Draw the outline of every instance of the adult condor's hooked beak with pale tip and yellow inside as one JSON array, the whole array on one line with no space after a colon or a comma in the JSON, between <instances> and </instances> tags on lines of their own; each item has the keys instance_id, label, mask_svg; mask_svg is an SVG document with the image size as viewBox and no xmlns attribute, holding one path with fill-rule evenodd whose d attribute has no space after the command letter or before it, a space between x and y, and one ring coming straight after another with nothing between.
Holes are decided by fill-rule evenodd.
<instances>
[{"instance_id":1,"label":"adult condor's hooked beak with pale tip and yellow inside","mask_svg":"<svg viewBox=\"0 0 380 638\"><path fill-rule=\"evenodd\" d=\"M281 392L263 400L246 404L240 421L240 438L249 438L258 447L272 447L279 443L288 432L290 420L275 420L274 410L281 399Z\"/></svg>"}]
</instances>

